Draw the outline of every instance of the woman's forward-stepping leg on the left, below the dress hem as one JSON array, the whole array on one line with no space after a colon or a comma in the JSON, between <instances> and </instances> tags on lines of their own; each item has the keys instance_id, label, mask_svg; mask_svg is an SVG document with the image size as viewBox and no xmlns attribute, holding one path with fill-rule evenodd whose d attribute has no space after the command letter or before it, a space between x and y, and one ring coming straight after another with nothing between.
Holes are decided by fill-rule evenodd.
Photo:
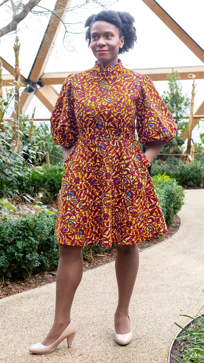
<instances>
[{"instance_id":1,"label":"woman's forward-stepping leg on the left, below the dress hem","mask_svg":"<svg viewBox=\"0 0 204 363\"><path fill-rule=\"evenodd\" d=\"M75 292L83 274L82 247L59 244L54 323L44 345L53 343L68 327Z\"/></svg>"}]
</instances>

